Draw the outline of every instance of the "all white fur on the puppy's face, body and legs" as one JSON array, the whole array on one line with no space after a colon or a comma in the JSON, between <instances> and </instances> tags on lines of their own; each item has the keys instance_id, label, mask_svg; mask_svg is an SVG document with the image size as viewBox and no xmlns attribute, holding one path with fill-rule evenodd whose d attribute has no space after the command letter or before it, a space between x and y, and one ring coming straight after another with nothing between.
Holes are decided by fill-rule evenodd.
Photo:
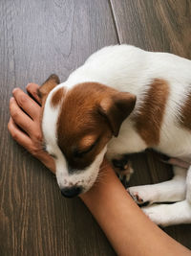
<instances>
[{"instance_id":1,"label":"all white fur on the puppy's face, body and legs","mask_svg":"<svg viewBox=\"0 0 191 256\"><path fill-rule=\"evenodd\" d=\"M88 58L84 65L75 70L69 79L59 86L71 90L77 83L96 81L114 87L119 91L131 92L137 96L134 112L138 112L139 106L143 103L145 94L149 89L149 84L155 79L168 81L170 86L170 96L160 129L160 141L155 150L181 159L191 159L191 132L181 128L179 123L180 107L191 90L190 60L167 53L146 52L130 45L109 46ZM49 130L46 129L46 127L49 127L53 131L55 130L56 117L59 112L59 107L54 109L51 106L50 99L51 96L48 97L45 106L43 131L47 143L52 144L53 151L57 151L55 145L56 133L49 134ZM47 112L49 112L49 117ZM146 147L145 142L134 128L130 115L123 122L118 137L109 142L107 155L112 158L117 154L144 151ZM84 171L83 178L92 176L94 170L96 170L97 175L98 165L103 158L103 153L101 153L99 160L97 160L97 157L91 167ZM67 176L66 182L70 180L74 183L81 179L78 174L68 175L65 161L61 154L56 160L56 174L60 186L65 186L65 183L63 183L64 176ZM177 174L179 172L180 174ZM149 200L150 203L163 200L183 200L171 205L144 208L144 212L157 223L168 225L191 222L191 174L189 172L186 177L186 171L180 170L179 172L175 171L175 177L166 183L130 188L132 194L136 192L140 198ZM95 181L96 175L91 179L91 185ZM89 187L89 185L86 186L87 189Z\"/></svg>"}]
</instances>

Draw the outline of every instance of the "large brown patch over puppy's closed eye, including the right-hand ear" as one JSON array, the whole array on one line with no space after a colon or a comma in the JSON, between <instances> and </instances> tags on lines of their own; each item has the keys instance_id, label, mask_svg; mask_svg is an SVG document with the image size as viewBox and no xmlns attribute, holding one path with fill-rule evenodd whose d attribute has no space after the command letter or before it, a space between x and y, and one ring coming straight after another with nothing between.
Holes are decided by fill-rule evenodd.
<instances>
[{"instance_id":1,"label":"large brown patch over puppy's closed eye, including the right-hand ear","mask_svg":"<svg viewBox=\"0 0 191 256\"><path fill-rule=\"evenodd\" d=\"M57 122L57 143L69 170L90 166L123 120L131 113L136 97L108 86L85 82L69 90Z\"/></svg>"}]
</instances>

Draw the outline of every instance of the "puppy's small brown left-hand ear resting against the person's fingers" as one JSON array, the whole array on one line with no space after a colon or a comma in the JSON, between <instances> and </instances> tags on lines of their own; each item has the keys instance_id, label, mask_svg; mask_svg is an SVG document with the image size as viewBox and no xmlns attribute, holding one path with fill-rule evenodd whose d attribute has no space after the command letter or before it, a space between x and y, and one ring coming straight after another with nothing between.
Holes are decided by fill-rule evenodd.
<instances>
[{"instance_id":1,"label":"puppy's small brown left-hand ear resting against the person's fingers","mask_svg":"<svg viewBox=\"0 0 191 256\"><path fill-rule=\"evenodd\" d=\"M50 91L59 84L59 78L57 75L51 75L47 81L43 82L43 84L38 89L38 96L42 101L42 104L45 103L47 96L49 95Z\"/></svg>"}]
</instances>

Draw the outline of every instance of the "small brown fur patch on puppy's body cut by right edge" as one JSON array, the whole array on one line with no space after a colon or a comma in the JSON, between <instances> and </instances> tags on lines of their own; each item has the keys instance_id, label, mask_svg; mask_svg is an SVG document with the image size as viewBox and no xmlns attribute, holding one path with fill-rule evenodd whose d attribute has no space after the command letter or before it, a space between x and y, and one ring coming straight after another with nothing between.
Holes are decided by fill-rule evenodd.
<instances>
[{"instance_id":1,"label":"small brown fur patch on puppy's body cut by right edge","mask_svg":"<svg viewBox=\"0 0 191 256\"><path fill-rule=\"evenodd\" d=\"M181 107L180 125L184 128L191 129L191 92L187 95L185 104Z\"/></svg>"}]
</instances>

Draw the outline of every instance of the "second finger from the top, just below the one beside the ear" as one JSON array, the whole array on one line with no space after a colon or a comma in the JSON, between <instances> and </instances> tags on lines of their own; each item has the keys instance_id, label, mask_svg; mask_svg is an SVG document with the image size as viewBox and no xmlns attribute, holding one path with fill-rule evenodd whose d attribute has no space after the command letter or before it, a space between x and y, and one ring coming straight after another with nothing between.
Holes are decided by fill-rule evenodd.
<instances>
[{"instance_id":1,"label":"second finger from the top, just below the one beside the ear","mask_svg":"<svg viewBox=\"0 0 191 256\"><path fill-rule=\"evenodd\" d=\"M17 105L31 116L32 120L39 119L41 107L35 103L30 96L24 93L20 88L13 89L12 95Z\"/></svg>"}]
</instances>

